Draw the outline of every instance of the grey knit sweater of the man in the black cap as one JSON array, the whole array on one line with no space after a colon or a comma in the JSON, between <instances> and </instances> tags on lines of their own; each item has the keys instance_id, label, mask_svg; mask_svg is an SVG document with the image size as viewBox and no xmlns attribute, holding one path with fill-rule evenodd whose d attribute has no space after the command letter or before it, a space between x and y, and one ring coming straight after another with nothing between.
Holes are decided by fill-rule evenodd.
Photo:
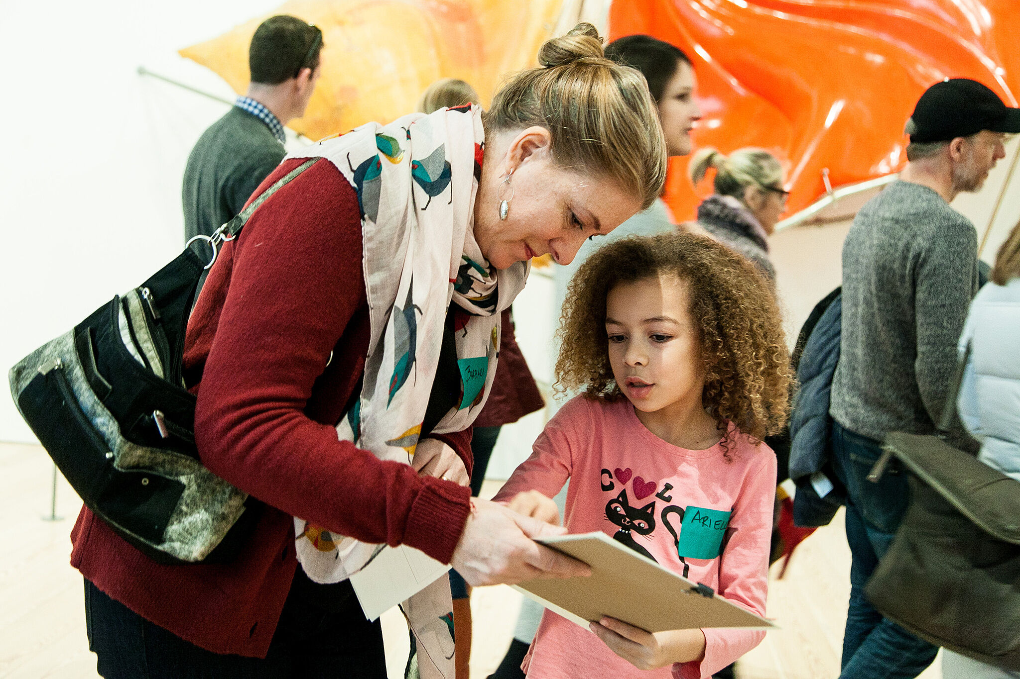
<instances>
[{"instance_id":1,"label":"grey knit sweater of the man in the black cap","mask_svg":"<svg viewBox=\"0 0 1020 679\"><path fill-rule=\"evenodd\" d=\"M832 417L877 441L889 432L934 432L976 292L970 220L932 189L906 181L869 201L843 245Z\"/></svg>"}]
</instances>

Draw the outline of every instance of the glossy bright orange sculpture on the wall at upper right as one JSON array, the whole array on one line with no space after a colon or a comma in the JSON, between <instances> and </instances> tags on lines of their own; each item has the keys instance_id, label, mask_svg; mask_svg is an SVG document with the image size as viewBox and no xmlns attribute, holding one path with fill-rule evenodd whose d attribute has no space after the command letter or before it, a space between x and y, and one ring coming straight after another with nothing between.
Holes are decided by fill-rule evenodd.
<instances>
[{"instance_id":1,"label":"glossy bright orange sculpture on the wall at upper right","mask_svg":"<svg viewBox=\"0 0 1020 679\"><path fill-rule=\"evenodd\" d=\"M904 123L945 77L971 77L1010 106L1020 93L1017 0L615 0L609 35L648 34L687 54L704 118L695 146L756 146L787 163L788 211L832 186L899 170ZM677 219L699 197L670 166Z\"/></svg>"}]
</instances>

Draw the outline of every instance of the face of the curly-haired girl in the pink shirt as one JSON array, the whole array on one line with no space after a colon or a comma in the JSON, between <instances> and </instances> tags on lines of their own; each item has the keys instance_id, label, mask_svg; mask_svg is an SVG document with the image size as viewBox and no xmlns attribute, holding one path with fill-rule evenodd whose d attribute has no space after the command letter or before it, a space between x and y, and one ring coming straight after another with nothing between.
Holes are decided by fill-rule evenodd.
<instances>
[{"instance_id":1,"label":"face of the curly-haired girl in the pink shirt","mask_svg":"<svg viewBox=\"0 0 1020 679\"><path fill-rule=\"evenodd\" d=\"M643 412L702 409L705 371L687 287L669 274L620 283L606 297L613 377Z\"/></svg>"}]
</instances>

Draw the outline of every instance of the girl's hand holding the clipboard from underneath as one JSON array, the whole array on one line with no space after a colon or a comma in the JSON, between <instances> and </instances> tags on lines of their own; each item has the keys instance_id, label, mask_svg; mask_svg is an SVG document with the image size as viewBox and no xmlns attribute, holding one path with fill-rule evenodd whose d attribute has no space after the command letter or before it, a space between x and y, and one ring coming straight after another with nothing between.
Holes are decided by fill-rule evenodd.
<instances>
[{"instance_id":1,"label":"girl's hand holding the clipboard from underneath","mask_svg":"<svg viewBox=\"0 0 1020 679\"><path fill-rule=\"evenodd\" d=\"M700 629L674 629L653 634L613 618L593 622L589 628L610 650L639 670L691 663L705 657L705 634Z\"/></svg>"}]
</instances>

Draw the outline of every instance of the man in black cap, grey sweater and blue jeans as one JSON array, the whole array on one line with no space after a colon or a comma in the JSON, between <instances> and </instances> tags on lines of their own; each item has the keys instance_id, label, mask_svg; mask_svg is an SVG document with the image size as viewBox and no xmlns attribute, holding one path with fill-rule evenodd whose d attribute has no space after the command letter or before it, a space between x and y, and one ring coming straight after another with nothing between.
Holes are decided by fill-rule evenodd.
<instances>
[{"instance_id":1,"label":"man in black cap, grey sweater and blue jeans","mask_svg":"<svg viewBox=\"0 0 1020 679\"><path fill-rule=\"evenodd\" d=\"M916 677L937 650L883 619L864 596L908 497L906 474L886 472L877 484L866 476L887 433L935 431L977 292L977 234L950 203L980 189L1012 132L1020 132L1020 110L988 88L964 78L935 83L907 122L907 167L861 209L844 242L829 409L853 555L842 679ZM962 430L955 443L972 447Z\"/></svg>"}]
</instances>

